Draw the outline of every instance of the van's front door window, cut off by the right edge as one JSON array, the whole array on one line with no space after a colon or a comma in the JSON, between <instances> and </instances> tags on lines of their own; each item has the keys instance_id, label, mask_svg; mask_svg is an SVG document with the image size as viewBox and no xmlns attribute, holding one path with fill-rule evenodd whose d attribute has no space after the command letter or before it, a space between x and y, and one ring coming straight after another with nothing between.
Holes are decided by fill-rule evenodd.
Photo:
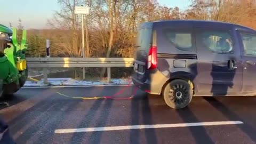
<instances>
[{"instance_id":1,"label":"van's front door window, cut off by the right edge","mask_svg":"<svg viewBox=\"0 0 256 144\"><path fill-rule=\"evenodd\" d=\"M256 57L256 35L242 33L241 37L244 45L244 55Z\"/></svg>"}]
</instances>

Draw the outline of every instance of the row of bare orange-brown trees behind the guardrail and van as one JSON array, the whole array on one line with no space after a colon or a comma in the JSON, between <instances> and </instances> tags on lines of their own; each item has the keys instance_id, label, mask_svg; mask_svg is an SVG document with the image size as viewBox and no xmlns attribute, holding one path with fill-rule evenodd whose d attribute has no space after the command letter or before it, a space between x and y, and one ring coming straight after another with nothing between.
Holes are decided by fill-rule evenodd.
<instances>
[{"instance_id":1,"label":"row of bare orange-brown trees behind the guardrail and van","mask_svg":"<svg viewBox=\"0 0 256 144\"><path fill-rule=\"evenodd\" d=\"M138 24L145 21L198 19L238 23L256 28L253 1L191 0L185 11L149 0L58 0L61 10L49 20L53 54L81 57L81 15L76 5L87 5L85 22L86 57L133 57ZM35 39L35 38L34 38ZM39 44L39 43L37 43ZM101 76L106 69L101 71Z\"/></svg>"}]
</instances>

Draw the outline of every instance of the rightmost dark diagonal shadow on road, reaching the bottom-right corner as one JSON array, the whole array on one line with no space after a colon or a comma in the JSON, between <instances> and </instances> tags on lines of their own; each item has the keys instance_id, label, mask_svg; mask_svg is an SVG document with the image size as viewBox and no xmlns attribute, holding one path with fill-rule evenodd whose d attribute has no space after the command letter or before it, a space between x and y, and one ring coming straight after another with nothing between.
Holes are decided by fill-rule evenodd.
<instances>
[{"instance_id":1,"label":"rightmost dark diagonal shadow on road, reaching the bottom-right corner","mask_svg":"<svg viewBox=\"0 0 256 144\"><path fill-rule=\"evenodd\" d=\"M213 97L204 98L207 102L209 102L214 108L220 111L223 115L229 118L231 121L242 121L244 124L237 125L239 129L241 129L248 137L251 138L254 142L256 142L256 130L253 129L253 126L248 124L245 119L236 115L231 109L223 105L219 100Z\"/></svg>"}]
</instances>

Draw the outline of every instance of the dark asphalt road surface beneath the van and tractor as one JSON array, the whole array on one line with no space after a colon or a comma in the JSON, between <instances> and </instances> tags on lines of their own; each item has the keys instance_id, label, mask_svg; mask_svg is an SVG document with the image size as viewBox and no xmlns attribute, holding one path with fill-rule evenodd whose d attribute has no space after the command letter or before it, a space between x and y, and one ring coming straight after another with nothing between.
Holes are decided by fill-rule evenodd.
<instances>
[{"instance_id":1,"label":"dark asphalt road surface beneath the van and tractor","mask_svg":"<svg viewBox=\"0 0 256 144\"><path fill-rule=\"evenodd\" d=\"M133 99L87 100L134 86L21 89L2 103L0 114L17 143L256 143L256 97L195 97L185 109L167 107L158 95L136 91ZM121 92L120 92L121 91ZM3 101L4 102L4 101ZM54 133L57 129L123 125L242 121L244 124L160 129Z\"/></svg>"}]
</instances>

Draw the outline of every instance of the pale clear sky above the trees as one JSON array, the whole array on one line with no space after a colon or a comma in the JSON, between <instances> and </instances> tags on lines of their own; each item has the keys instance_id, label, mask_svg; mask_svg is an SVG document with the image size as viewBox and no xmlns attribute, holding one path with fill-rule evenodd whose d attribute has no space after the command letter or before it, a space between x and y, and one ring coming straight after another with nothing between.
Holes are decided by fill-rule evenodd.
<instances>
[{"instance_id":1,"label":"pale clear sky above the trees","mask_svg":"<svg viewBox=\"0 0 256 144\"><path fill-rule=\"evenodd\" d=\"M54 11L60 10L58 0L0 0L0 23L18 26L18 19L22 20L25 29L47 28L47 19L51 19ZM186 9L190 0L158 0L161 5Z\"/></svg>"}]
</instances>

